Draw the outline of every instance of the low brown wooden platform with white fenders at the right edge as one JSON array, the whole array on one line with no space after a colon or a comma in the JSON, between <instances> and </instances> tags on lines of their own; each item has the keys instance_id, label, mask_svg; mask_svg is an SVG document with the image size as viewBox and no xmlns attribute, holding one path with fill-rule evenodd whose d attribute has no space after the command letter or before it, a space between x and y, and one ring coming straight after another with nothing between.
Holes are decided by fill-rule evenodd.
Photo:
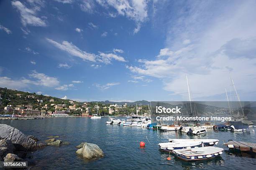
<instances>
[{"instance_id":1,"label":"low brown wooden platform with white fenders at the right edge","mask_svg":"<svg viewBox=\"0 0 256 170\"><path fill-rule=\"evenodd\" d=\"M251 152L256 153L256 143L247 143L247 142L239 142L239 141L229 141L225 143L228 148L232 149L238 149L241 150L241 152Z\"/></svg>"}]
</instances>

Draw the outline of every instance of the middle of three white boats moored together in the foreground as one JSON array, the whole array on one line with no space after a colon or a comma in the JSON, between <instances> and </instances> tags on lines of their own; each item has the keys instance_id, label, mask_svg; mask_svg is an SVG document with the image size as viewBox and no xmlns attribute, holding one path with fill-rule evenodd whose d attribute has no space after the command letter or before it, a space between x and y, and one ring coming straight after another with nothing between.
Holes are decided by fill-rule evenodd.
<instances>
[{"instance_id":1,"label":"middle of three white boats moored together in the foreground","mask_svg":"<svg viewBox=\"0 0 256 170\"><path fill-rule=\"evenodd\" d=\"M168 142L168 143L159 143L158 145L161 151L164 151L164 152L172 152L173 150L176 150L176 149L202 147L202 143L200 141Z\"/></svg>"}]
</instances>

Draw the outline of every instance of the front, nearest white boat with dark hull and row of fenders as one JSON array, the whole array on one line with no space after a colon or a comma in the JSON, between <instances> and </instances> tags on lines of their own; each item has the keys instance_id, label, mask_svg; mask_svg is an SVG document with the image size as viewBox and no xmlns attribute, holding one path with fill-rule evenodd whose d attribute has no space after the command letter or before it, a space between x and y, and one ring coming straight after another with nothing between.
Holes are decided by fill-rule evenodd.
<instances>
[{"instance_id":1,"label":"front, nearest white boat with dark hull and row of fenders","mask_svg":"<svg viewBox=\"0 0 256 170\"><path fill-rule=\"evenodd\" d=\"M209 146L191 149L177 149L172 152L177 156L177 158L185 161L208 160L221 155L223 153L223 148Z\"/></svg>"}]
</instances>

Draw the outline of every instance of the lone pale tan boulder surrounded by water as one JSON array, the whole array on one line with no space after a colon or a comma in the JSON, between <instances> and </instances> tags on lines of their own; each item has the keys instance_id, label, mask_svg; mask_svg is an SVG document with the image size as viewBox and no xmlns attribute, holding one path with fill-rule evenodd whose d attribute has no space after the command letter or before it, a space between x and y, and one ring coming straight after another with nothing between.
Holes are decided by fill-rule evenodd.
<instances>
[{"instance_id":1,"label":"lone pale tan boulder surrounded by water","mask_svg":"<svg viewBox=\"0 0 256 170\"><path fill-rule=\"evenodd\" d=\"M85 159L100 158L104 156L103 151L98 145L93 143L85 143L83 148L80 148L76 152L78 155L81 155Z\"/></svg>"}]
</instances>

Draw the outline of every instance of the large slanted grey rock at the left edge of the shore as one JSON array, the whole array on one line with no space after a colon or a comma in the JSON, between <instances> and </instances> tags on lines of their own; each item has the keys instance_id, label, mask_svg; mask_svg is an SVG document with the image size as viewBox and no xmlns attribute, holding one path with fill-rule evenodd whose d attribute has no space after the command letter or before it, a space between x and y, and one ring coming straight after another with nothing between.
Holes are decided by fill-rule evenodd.
<instances>
[{"instance_id":1,"label":"large slanted grey rock at the left edge of the shore","mask_svg":"<svg viewBox=\"0 0 256 170\"><path fill-rule=\"evenodd\" d=\"M10 125L0 124L0 139L11 140L16 145L21 145L27 150L36 149L36 141L28 138L20 130L11 127Z\"/></svg>"}]
</instances>

